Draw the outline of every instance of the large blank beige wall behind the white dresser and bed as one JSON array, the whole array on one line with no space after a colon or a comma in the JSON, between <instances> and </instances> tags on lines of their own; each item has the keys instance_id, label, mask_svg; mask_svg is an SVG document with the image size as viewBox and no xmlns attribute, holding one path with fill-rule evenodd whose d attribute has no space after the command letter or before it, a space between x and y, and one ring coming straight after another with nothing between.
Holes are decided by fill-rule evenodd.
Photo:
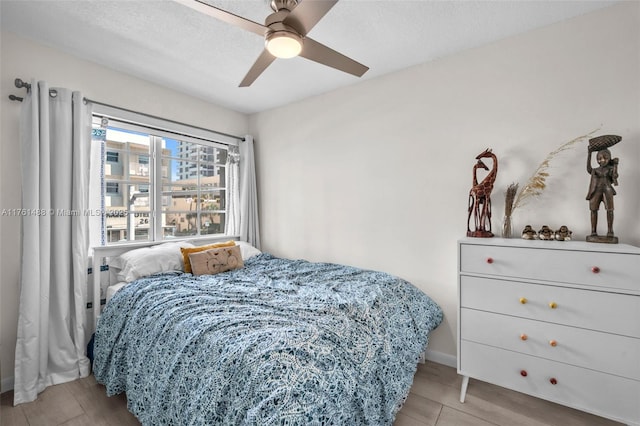
<instances>
[{"instance_id":1,"label":"large blank beige wall behind the white dresser and bed","mask_svg":"<svg viewBox=\"0 0 640 426\"><path fill-rule=\"evenodd\" d=\"M495 230L510 183L600 126L623 136L616 234L640 245L639 9L626 2L253 115L263 248L408 279L445 310L431 349L454 356L475 156L491 147L499 158ZM544 194L516 211L517 232L566 224L584 240L586 152L552 162Z\"/></svg>"}]
</instances>

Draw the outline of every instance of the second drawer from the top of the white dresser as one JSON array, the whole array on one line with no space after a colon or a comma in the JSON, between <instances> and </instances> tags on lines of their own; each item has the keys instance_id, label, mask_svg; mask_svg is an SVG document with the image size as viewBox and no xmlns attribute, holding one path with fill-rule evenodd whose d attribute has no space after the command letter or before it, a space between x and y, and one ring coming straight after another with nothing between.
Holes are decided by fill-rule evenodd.
<instances>
[{"instance_id":1,"label":"second drawer from the top of the white dresser","mask_svg":"<svg viewBox=\"0 0 640 426\"><path fill-rule=\"evenodd\" d=\"M460 307L640 338L640 296L461 276Z\"/></svg>"}]
</instances>

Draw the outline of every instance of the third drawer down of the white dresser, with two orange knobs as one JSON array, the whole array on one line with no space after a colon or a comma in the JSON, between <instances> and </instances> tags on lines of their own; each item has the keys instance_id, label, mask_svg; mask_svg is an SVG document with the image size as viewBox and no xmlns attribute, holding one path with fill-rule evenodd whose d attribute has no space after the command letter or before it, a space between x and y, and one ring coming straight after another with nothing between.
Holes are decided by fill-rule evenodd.
<instances>
[{"instance_id":1,"label":"third drawer down of the white dresser, with two orange knobs","mask_svg":"<svg viewBox=\"0 0 640 426\"><path fill-rule=\"evenodd\" d=\"M640 381L640 339L463 308L460 338Z\"/></svg>"}]
</instances>

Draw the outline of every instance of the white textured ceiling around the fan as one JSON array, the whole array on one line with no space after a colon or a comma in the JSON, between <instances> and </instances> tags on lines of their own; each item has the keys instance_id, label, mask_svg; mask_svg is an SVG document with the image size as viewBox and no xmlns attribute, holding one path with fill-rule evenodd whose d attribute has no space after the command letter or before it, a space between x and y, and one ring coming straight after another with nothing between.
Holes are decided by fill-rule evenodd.
<instances>
[{"instance_id":1,"label":"white textured ceiling around the fan","mask_svg":"<svg viewBox=\"0 0 640 426\"><path fill-rule=\"evenodd\" d=\"M266 0L207 1L259 23L271 13ZM367 65L370 70L363 77L303 58L278 59L246 88L238 84L262 51L263 39L173 1L0 0L0 16L3 31L253 113L613 3L616 0L342 0L309 37Z\"/></svg>"}]
</instances>

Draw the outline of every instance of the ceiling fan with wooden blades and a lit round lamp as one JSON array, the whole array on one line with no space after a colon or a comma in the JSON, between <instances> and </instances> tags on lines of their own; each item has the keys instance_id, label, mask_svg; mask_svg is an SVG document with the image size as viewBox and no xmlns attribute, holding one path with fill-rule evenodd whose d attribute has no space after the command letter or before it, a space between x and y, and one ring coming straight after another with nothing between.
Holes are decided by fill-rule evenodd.
<instances>
[{"instance_id":1,"label":"ceiling fan with wooden blades and a lit round lamp","mask_svg":"<svg viewBox=\"0 0 640 426\"><path fill-rule=\"evenodd\" d=\"M361 77L369 69L307 37L309 31L338 0L271 0L274 13L267 16L264 25L200 0L175 1L265 38L265 49L240 82L240 87L250 86L276 58L302 56L357 77Z\"/></svg>"}]
</instances>

